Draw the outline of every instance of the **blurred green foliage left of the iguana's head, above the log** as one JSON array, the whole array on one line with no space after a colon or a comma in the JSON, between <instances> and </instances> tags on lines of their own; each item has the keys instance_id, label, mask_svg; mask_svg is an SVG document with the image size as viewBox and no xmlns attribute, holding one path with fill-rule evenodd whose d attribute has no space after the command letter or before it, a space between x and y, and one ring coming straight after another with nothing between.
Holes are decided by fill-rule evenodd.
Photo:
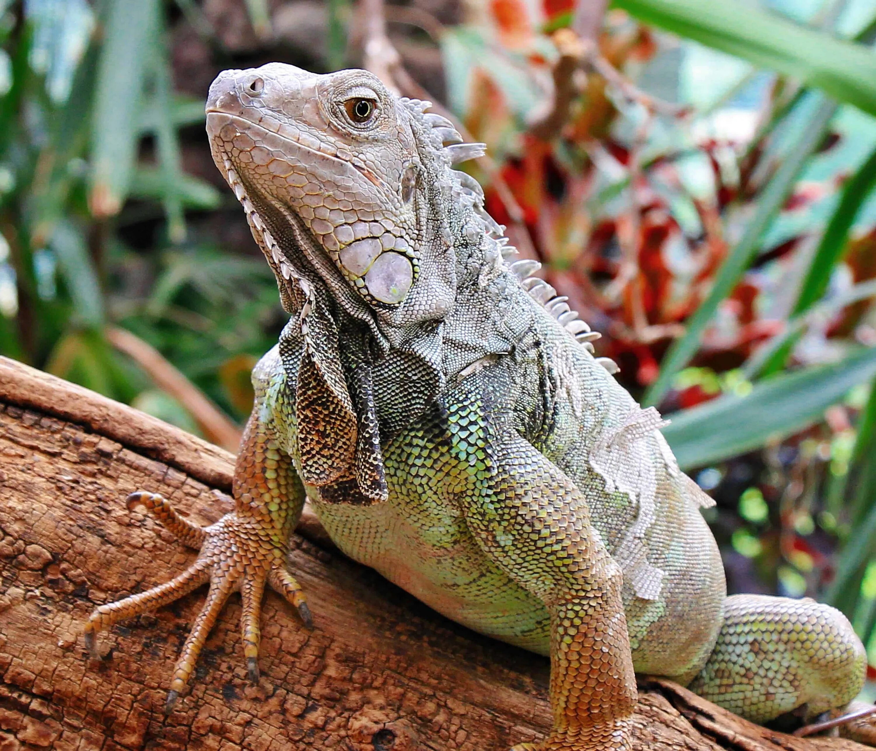
<instances>
[{"instance_id":1,"label":"blurred green foliage left of the iguana's head, above the log","mask_svg":"<svg viewBox=\"0 0 876 751\"><path fill-rule=\"evenodd\" d=\"M183 405L147 394L148 376L106 343L104 326L117 323L243 418L248 406L220 369L272 346L276 289L257 257L187 232L187 216L223 198L182 169L180 130L204 116L200 100L173 93L172 9L5 5L0 351L193 428Z\"/></svg>"}]
</instances>

